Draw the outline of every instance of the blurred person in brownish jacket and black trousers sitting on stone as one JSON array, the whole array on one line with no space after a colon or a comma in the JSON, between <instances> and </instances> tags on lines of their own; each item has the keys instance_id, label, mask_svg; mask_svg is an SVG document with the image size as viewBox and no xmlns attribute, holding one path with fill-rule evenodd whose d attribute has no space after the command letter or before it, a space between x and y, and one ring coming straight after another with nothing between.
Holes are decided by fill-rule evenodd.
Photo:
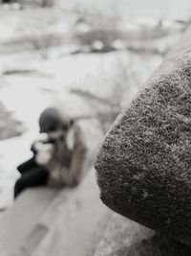
<instances>
[{"instance_id":1,"label":"blurred person in brownish jacket and black trousers sitting on stone","mask_svg":"<svg viewBox=\"0 0 191 256\"><path fill-rule=\"evenodd\" d=\"M49 107L38 123L42 136L32 143L32 158L17 167L21 177L15 183L14 198L29 187L76 186L84 173L87 147L76 121Z\"/></svg>"}]
</instances>

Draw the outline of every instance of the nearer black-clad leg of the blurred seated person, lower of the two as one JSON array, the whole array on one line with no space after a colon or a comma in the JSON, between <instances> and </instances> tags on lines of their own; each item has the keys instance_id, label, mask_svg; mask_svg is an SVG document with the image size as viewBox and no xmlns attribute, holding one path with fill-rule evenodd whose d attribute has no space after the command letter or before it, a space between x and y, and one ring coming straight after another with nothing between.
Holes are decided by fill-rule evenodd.
<instances>
[{"instance_id":1,"label":"nearer black-clad leg of the blurred seated person, lower of the two","mask_svg":"<svg viewBox=\"0 0 191 256\"><path fill-rule=\"evenodd\" d=\"M42 167L33 168L26 174L22 175L15 183L14 198L16 198L26 188L46 185L48 175L48 171Z\"/></svg>"}]
</instances>

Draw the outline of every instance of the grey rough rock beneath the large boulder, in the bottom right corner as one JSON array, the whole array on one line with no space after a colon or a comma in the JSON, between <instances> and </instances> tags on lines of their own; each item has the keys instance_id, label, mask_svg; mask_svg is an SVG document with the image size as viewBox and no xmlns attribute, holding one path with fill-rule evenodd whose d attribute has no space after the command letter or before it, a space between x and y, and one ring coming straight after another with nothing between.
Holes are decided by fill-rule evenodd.
<instances>
[{"instance_id":1,"label":"grey rough rock beneath the large boulder, in the bottom right corner","mask_svg":"<svg viewBox=\"0 0 191 256\"><path fill-rule=\"evenodd\" d=\"M113 215L94 256L189 256L191 247Z\"/></svg>"}]
</instances>

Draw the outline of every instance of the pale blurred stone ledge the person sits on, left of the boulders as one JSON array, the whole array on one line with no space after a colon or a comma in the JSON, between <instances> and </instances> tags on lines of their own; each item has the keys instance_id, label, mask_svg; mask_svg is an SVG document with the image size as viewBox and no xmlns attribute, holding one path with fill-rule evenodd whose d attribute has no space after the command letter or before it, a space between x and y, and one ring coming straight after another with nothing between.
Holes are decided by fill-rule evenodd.
<instances>
[{"instance_id":1,"label":"pale blurred stone ledge the person sits on, left of the boulders","mask_svg":"<svg viewBox=\"0 0 191 256\"><path fill-rule=\"evenodd\" d=\"M110 216L93 170L74 189L26 191L0 221L0 255L94 255Z\"/></svg>"}]
</instances>

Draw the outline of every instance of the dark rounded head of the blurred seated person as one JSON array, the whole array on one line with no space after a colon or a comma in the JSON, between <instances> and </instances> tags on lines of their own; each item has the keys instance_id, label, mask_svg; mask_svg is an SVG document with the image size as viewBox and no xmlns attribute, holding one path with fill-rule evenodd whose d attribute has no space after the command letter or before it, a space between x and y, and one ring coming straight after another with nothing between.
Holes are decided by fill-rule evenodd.
<instances>
[{"instance_id":1,"label":"dark rounded head of the blurred seated person","mask_svg":"<svg viewBox=\"0 0 191 256\"><path fill-rule=\"evenodd\" d=\"M40 132L63 134L72 127L74 121L66 117L58 108L48 107L40 115L39 120Z\"/></svg>"}]
</instances>

